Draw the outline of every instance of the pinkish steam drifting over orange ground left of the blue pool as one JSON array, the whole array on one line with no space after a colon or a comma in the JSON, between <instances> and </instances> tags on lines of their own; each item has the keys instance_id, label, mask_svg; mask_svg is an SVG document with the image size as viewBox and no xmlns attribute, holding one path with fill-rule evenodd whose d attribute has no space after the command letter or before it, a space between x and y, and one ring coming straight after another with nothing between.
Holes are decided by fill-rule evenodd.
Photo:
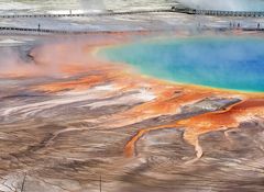
<instances>
[{"instance_id":1,"label":"pinkish steam drifting over orange ground left of the blue pool","mask_svg":"<svg viewBox=\"0 0 264 192\"><path fill-rule=\"evenodd\" d=\"M0 77L65 77L85 72L100 65L95 60L95 48L114 39L92 34L51 38L25 52L3 47L0 48Z\"/></svg>"}]
</instances>

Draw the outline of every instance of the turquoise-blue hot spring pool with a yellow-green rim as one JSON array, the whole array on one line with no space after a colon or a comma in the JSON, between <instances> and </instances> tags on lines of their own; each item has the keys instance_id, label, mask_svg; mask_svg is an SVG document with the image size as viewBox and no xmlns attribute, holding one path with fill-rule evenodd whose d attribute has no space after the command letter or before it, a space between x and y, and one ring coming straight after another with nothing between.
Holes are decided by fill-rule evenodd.
<instances>
[{"instance_id":1,"label":"turquoise-blue hot spring pool with a yellow-green rim","mask_svg":"<svg viewBox=\"0 0 264 192\"><path fill-rule=\"evenodd\" d=\"M102 49L100 56L179 83L264 92L264 39L174 38Z\"/></svg>"}]
</instances>

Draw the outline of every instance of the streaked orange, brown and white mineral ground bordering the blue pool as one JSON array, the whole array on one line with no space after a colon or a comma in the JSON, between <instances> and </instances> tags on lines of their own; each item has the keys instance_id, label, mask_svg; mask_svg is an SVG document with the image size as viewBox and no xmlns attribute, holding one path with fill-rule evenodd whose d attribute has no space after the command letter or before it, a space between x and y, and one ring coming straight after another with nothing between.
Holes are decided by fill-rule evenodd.
<instances>
[{"instance_id":1,"label":"streaked orange, brown and white mineral ground bordering the blue pool","mask_svg":"<svg viewBox=\"0 0 264 192\"><path fill-rule=\"evenodd\" d=\"M264 191L262 94L141 77L95 58L124 41L109 39L45 45L3 74L1 192L97 192L100 177L105 192Z\"/></svg>"}]
</instances>

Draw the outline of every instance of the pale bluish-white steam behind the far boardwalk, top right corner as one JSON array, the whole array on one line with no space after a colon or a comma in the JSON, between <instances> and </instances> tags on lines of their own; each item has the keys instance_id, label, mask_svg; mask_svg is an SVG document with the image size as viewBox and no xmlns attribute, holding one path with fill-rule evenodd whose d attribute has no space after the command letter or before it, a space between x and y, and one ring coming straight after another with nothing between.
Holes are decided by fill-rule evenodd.
<instances>
[{"instance_id":1,"label":"pale bluish-white steam behind the far boardwalk, top right corner","mask_svg":"<svg viewBox=\"0 0 264 192\"><path fill-rule=\"evenodd\" d=\"M178 0L194 9L226 11L264 11L263 0Z\"/></svg>"}]
</instances>

